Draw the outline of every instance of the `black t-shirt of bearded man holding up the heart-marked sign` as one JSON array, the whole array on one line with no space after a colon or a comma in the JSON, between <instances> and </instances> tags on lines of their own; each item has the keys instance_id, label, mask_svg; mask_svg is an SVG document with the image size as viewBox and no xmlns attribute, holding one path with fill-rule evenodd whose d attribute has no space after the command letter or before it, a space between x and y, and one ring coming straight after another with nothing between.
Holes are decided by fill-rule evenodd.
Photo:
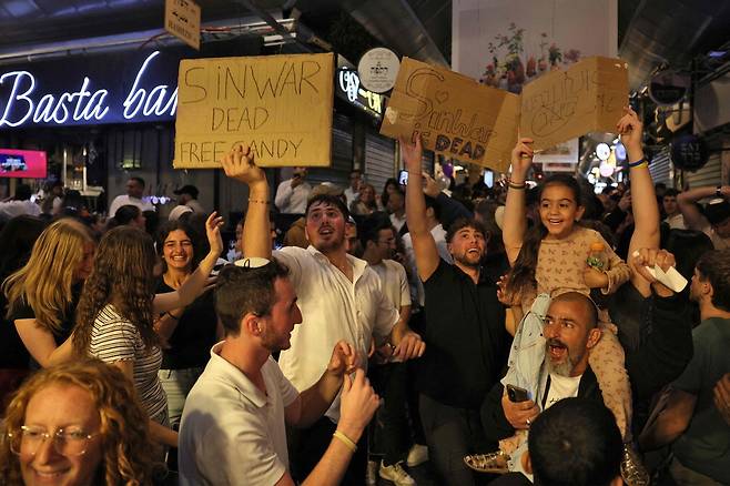
<instances>
[{"instance_id":1,"label":"black t-shirt of bearded man holding up the heart-marked sign","mask_svg":"<svg viewBox=\"0 0 730 486\"><path fill-rule=\"evenodd\" d=\"M418 388L445 405L478 408L501 375L510 343L497 287L484 272L475 285L440 260L424 291L426 353L419 360Z\"/></svg>"}]
</instances>

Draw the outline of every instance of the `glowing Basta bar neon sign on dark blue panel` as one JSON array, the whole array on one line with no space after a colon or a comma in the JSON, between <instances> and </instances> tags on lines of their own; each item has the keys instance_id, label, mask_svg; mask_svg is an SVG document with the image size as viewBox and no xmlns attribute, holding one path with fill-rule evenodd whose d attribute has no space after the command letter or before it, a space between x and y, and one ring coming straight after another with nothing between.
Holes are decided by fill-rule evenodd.
<instances>
[{"instance_id":1,"label":"glowing Basta bar neon sign on dark blue panel","mask_svg":"<svg viewBox=\"0 0 730 486\"><path fill-rule=\"evenodd\" d=\"M119 77L119 71L97 65L95 74L84 73L75 85L58 87L60 78L67 80L59 75L60 72L74 71L67 65L72 60L63 61L61 69L55 68L58 71L48 65L39 65L36 70L55 71L53 78L44 78L29 69L4 72L0 75L0 128L172 120L178 108L174 77L179 59L173 59L172 70L163 69L166 74L163 77L169 79L165 83L160 82L160 75L152 73L155 61L160 63L159 57L160 51L146 55L131 83L129 79L110 79L110 75ZM103 68L110 63L105 59ZM129 65L129 62L122 65ZM171 60L166 59L161 68L172 65ZM49 79L52 81L49 82Z\"/></svg>"}]
</instances>

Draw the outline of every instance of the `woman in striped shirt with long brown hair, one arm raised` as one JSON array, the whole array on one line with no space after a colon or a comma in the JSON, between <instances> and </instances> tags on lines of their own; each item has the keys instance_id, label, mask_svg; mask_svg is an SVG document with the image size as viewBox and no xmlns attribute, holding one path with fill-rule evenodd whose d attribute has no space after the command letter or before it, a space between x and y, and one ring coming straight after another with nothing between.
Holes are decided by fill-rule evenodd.
<instances>
[{"instance_id":1,"label":"woman in striped shirt with long brown hair, one arm raised","mask_svg":"<svg viewBox=\"0 0 730 486\"><path fill-rule=\"evenodd\" d=\"M152 438L172 447L178 446L178 433L169 428L168 399L158 376L162 352L154 316L184 307L201 293L223 250L222 220L216 213L207 217L211 250L197 269L175 292L158 295L152 237L131 226L109 231L99 243L77 312L72 337L77 352L122 369L134 382Z\"/></svg>"}]
</instances>

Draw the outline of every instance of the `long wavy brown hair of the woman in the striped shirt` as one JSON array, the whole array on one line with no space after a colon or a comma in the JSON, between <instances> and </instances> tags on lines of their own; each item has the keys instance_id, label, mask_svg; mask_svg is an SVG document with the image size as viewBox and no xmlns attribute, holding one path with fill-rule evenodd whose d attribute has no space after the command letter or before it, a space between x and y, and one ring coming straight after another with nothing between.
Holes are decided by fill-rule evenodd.
<instances>
[{"instance_id":1,"label":"long wavy brown hair of the woman in the striped shirt","mask_svg":"<svg viewBox=\"0 0 730 486\"><path fill-rule=\"evenodd\" d=\"M108 304L134 324L148 348L159 345L152 327L155 259L152 237L142 230L119 226L104 234L77 307L77 353L88 353L94 321Z\"/></svg>"}]
</instances>

